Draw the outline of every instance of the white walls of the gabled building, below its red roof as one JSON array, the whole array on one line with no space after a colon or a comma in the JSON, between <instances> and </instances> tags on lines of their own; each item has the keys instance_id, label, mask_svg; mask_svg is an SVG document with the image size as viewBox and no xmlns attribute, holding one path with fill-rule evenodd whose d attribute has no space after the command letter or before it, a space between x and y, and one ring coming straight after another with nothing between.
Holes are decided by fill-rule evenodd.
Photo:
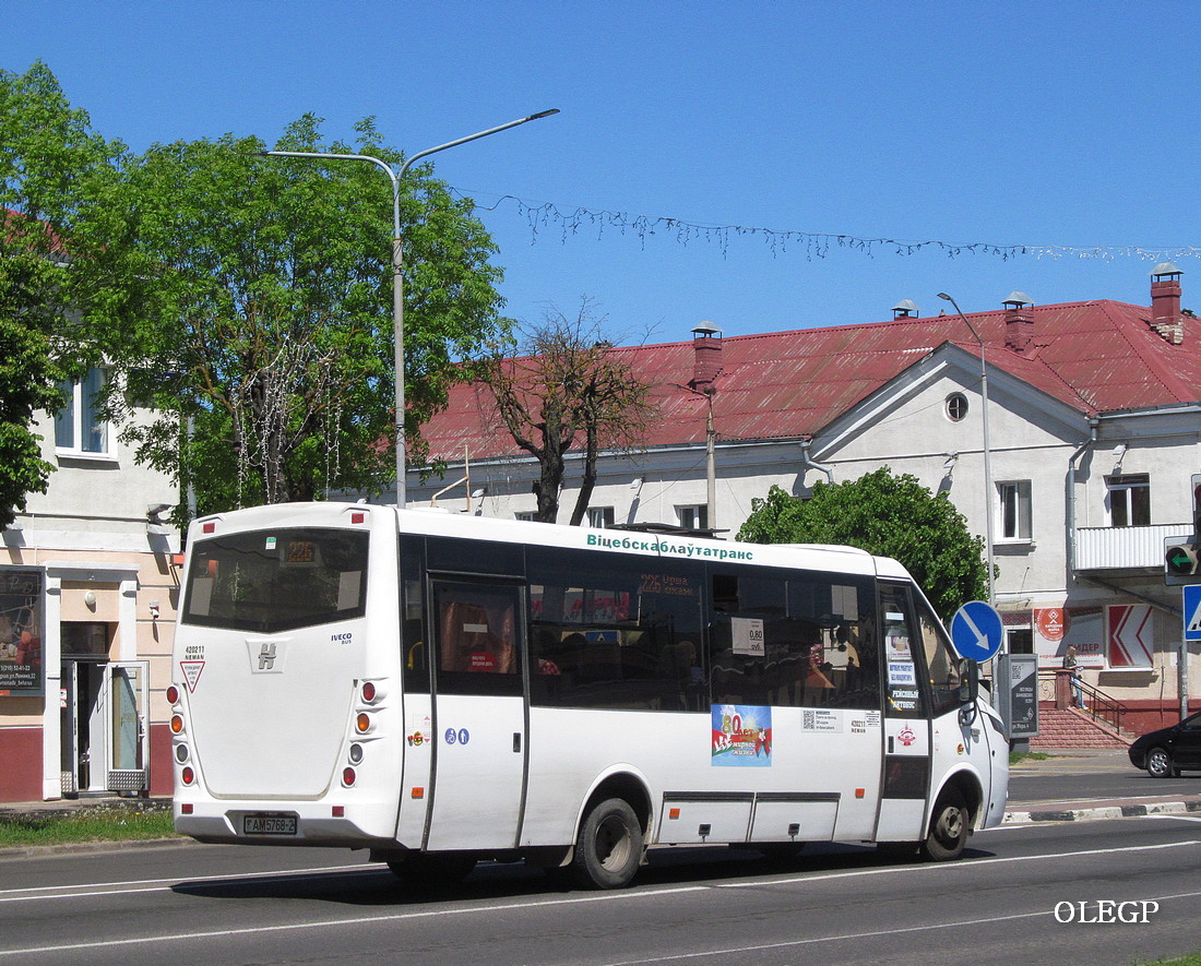
<instances>
[{"instance_id":1,"label":"white walls of the gabled building, below its red roof","mask_svg":"<svg viewBox=\"0 0 1201 966\"><path fill-rule=\"evenodd\" d=\"M1152 524L1183 522L1182 532L1187 532L1193 503L1189 478L1201 468L1196 414L1149 410L1103 415L1091 425L1085 413L999 370L992 372L988 390L992 490L986 487L985 478L979 360L970 356L956 359L948 354L915 365L886 392L865 401L817 434L807 452L831 472L835 482L858 479L882 466L909 473L933 492L948 493L966 516L969 530L981 536L986 532L985 514L992 512L993 559L999 571L996 602L1009 626L1032 628L1035 612L1066 608L1080 614L1077 632L1105 653L1107 608L1149 606L1152 666L1106 665L1088 668L1085 676L1113 697L1136 702L1139 720L1157 720L1160 708L1170 713L1179 703L1178 590L1165 587L1161 562L1151 569L1075 575L1069 560L1069 522L1074 518L1076 527L1110 527L1106 479L1115 473L1146 473L1151 480ZM967 416L958 422L946 412L951 392L962 392L969 404ZM719 418L717 430L721 433ZM817 480L826 479L821 469L806 464L802 452L800 440L719 442L717 526L727 532L725 539L733 539L751 514L753 500L765 497L771 486L803 494ZM957 455L954 461L951 454ZM1072 464L1075 482L1069 491ZM479 462L471 467L471 487L486 487L486 496L468 502L467 491L460 488L438 503L498 517L532 511L536 500L530 487L536 470L537 464L528 458ZM462 467L455 466L444 480L424 486L414 476L408 498L411 503L428 500L461 475ZM574 505L578 478L578 460L569 457L560 522L567 522ZM996 484L1027 480L1030 539L1005 540L996 516ZM591 500L593 506L613 506L617 523L675 523L676 506L705 503L703 444L604 457ZM1201 696L1201 653L1196 646L1188 655L1188 670L1189 691Z\"/></svg>"}]
</instances>

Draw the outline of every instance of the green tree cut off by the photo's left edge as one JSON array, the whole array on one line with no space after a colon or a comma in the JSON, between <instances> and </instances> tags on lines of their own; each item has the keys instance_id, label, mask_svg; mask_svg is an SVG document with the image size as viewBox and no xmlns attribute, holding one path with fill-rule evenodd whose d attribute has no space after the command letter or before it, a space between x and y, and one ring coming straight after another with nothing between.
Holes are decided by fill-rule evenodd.
<instances>
[{"instance_id":1,"label":"green tree cut off by the photo's left edge","mask_svg":"<svg viewBox=\"0 0 1201 966\"><path fill-rule=\"evenodd\" d=\"M88 346L77 288L92 247L84 226L115 180L124 145L91 130L44 64L0 70L0 524L46 492L54 467L32 431L64 402L58 384ZM65 241L70 239L70 241Z\"/></svg>"}]
</instances>

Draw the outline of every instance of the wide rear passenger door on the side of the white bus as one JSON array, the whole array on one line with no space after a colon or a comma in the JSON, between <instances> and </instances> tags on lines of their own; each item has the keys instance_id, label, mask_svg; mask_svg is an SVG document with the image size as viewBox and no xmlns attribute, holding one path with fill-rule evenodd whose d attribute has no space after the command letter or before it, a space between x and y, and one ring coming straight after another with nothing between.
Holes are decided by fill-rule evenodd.
<instances>
[{"instance_id":1,"label":"wide rear passenger door on the side of the white bus","mask_svg":"<svg viewBox=\"0 0 1201 966\"><path fill-rule=\"evenodd\" d=\"M430 580L434 780L430 851L513 848L526 781L525 587Z\"/></svg>"}]
</instances>

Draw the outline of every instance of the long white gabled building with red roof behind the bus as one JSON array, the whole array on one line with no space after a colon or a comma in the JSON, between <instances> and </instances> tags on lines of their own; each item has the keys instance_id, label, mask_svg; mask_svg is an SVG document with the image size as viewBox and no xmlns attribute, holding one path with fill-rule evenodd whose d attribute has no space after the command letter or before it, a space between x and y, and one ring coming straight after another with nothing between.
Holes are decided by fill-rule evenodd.
<instances>
[{"instance_id":1,"label":"long white gabled building with red roof behind the bus","mask_svg":"<svg viewBox=\"0 0 1201 966\"><path fill-rule=\"evenodd\" d=\"M803 496L889 466L949 493L974 533L992 524L994 602L1015 653L1050 668L1075 644L1091 684L1135 712L1158 712L1161 694L1177 708L1182 594L1165 584L1165 541L1191 533L1201 470L1201 319L1181 298L1181 271L1164 263L1151 306L1014 293L966 317L950 300L936 316L907 301L874 323L729 338L704 324L692 341L615 348L656 386L659 415L641 450L603 457L590 521L733 535L773 485ZM458 386L423 434L449 469L414 472L411 504L465 475L466 457L470 490L440 505L533 511L537 464L485 386ZM1201 696L1201 664L1190 670Z\"/></svg>"}]
</instances>

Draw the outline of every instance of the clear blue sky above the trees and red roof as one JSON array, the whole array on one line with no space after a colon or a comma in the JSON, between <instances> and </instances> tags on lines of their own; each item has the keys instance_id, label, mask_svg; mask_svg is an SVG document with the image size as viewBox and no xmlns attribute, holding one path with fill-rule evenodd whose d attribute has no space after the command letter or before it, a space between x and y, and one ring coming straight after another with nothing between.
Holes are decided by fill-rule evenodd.
<instances>
[{"instance_id":1,"label":"clear blue sky above the trees and red roof","mask_svg":"<svg viewBox=\"0 0 1201 966\"><path fill-rule=\"evenodd\" d=\"M1201 246L1201 4L2 0L0 67L44 60L135 149L232 131L269 142L305 112L349 138L374 115L480 205L625 212L797 233L640 236L513 202L480 217L507 313L593 298L617 332L688 338L1109 298L1146 305L1155 258ZM381 175L381 192L387 180ZM890 246L812 257L802 233L1099 247L1003 259ZM1201 258L1177 258L1201 311ZM1190 296L1196 287L1197 295Z\"/></svg>"}]
</instances>

